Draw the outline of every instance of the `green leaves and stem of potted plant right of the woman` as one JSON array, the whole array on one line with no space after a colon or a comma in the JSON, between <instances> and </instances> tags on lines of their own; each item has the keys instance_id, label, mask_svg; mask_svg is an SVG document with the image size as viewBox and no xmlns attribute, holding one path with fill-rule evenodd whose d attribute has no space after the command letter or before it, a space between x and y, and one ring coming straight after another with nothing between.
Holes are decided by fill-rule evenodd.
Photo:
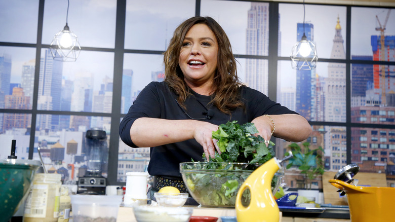
<instances>
[{"instance_id":1,"label":"green leaves and stem of potted plant right of the woman","mask_svg":"<svg viewBox=\"0 0 395 222\"><path fill-rule=\"evenodd\" d=\"M292 166L298 167L303 175L303 188L311 190L311 182L318 175L324 174L324 149L319 146L317 149L310 149L309 142L303 142L303 149L297 143L291 143L293 158L289 160L287 169Z\"/></svg>"}]
</instances>

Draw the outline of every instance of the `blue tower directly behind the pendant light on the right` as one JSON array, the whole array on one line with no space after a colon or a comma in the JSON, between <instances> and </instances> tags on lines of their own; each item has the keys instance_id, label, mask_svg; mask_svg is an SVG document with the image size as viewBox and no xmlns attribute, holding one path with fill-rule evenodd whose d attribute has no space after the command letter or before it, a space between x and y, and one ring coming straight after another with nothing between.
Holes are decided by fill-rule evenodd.
<instances>
[{"instance_id":1,"label":"blue tower directly behind the pendant light on the right","mask_svg":"<svg viewBox=\"0 0 395 222\"><path fill-rule=\"evenodd\" d=\"M302 39L303 33L307 40L314 41L314 25L311 23L297 23L296 41ZM314 77L313 70L296 70L296 112L307 120L311 120L311 107L314 107L315 86L311 84Z\"/></svg>"}]
</instances>

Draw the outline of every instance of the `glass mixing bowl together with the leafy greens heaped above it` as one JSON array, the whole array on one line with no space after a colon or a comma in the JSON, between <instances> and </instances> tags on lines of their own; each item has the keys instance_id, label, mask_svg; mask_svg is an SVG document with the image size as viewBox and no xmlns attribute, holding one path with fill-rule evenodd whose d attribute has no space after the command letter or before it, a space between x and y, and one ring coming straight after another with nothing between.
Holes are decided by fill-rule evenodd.
<instances>
[{"instance_id":1,"label":"glass mixing bowl together with the leafy greens heaped above it","mask_svg":"<svg viewBox=\"0 0 395 222\"><path fill-rule=\"evenodd\" d=\"M273 142L268 145L257 135L253 123L236 121L221 124L212 137L217 139L221 154L205 162L180 163L180 173L189 194L204 207L229 207L235 205L239 188L259 166L273 158ZM206 159L205 154L203 158ZM282 174L272 180L273 194L277 192ZM248 205L249 190L243 193L242 202Z\"/></svg>"}]
</instances>

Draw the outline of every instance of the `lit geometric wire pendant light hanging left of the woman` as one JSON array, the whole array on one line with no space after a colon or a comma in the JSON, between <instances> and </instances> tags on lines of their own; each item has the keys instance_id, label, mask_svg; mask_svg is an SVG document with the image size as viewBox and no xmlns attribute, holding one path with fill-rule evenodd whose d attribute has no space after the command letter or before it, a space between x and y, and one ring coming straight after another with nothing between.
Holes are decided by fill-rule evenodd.
<instances>
[{"instance_id":1,"label":"lit geometric wire pendant light hanging left of the woman","mask_svg":"<svg viewBox=\"0 0 395 222\"><path fill-rule=\"evenodd\" d=\"M66 25L63 30L55 34L50 45L50 50L54 60L63 62L73 62L80 55L81 47L75 35L67 25L69 0L67 0Z\"/></svg>"}]
</instances>

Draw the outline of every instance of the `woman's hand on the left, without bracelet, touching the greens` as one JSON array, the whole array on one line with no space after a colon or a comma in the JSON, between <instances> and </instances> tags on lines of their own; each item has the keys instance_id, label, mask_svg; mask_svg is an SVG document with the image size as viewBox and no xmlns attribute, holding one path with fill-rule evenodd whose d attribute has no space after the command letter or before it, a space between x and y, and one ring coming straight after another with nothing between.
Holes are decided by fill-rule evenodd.
<instances>
[{"instance_id":1,"label":"woman's hand on the left, without bracelet, touching the greens","mask_svg":"<svg viewBox=\"0 0 395 222\"><path fill-rule=\"evenodd\" d=\"M212 132L217 130L217 125L203 121L198 121L194 128L193 138L203 146L207 161L209 161L209 156L215 158L215 150L221 154L217 145L217 140L212 138Z\"/></svg>"}]
</instances>

